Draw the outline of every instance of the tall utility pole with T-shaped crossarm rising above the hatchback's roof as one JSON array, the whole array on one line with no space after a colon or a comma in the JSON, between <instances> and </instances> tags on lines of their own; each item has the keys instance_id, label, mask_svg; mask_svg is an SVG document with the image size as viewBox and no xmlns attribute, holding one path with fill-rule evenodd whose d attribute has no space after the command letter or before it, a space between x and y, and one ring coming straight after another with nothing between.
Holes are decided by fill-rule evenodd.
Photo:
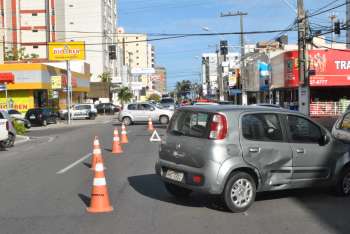
<instances>
[{"instance_id":1,"label":"tall utility pole with T-shaped crossarm rising above the hatchback's roof","mask_svg":"<svg viewBox=\"0 0 350 234\"><path fill-rule=\"evenodd\" d=\"M242 105L248 105L248 95L247 95L247 82L245 80L245 74L243 74L243 70L245 67L244 64L244 28L243 28L243 16L248 15L246 12L229 12L229 13L221 13L221 17L230 17L230 16L239 16L240 18L240 28L241 28L241 81L242 81Z\"/></svg>"}]
</instances>

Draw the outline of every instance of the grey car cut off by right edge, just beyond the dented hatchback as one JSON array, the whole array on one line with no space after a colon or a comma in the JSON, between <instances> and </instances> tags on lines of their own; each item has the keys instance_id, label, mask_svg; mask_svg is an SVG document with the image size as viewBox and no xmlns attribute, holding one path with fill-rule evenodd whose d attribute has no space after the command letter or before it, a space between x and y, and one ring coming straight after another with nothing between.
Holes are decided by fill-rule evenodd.
<instances>
[{"instance_id":1,"label":"grey car cut off by right edge, just beyond the dented hatchback","mask_svg":"<svg viewBox=\"0 0 350 234\"><path fill-rule=\"evenodd\" d=\"M336 139L350 144L350 111L336 121L332 134Z\"/></svg>"}]
</instances>

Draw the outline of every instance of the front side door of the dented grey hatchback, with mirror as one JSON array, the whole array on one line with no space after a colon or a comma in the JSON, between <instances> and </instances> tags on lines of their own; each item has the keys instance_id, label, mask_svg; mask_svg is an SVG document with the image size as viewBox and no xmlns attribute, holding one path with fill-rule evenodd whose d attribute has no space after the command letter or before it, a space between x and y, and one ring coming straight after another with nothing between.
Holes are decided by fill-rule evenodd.
<instances>
[{"instance_id":1,"label":"front side door of the dented grey hatchback, with mirror","mask_svg":"<svg viewBox=\"0 0 350 234\"><path fill-rule=\"evenodd\" d=\"M303 116L287 115L293 150L293 184L308 186L329 179L336 155L327 132Z\"/></svg>"}]
</instances>

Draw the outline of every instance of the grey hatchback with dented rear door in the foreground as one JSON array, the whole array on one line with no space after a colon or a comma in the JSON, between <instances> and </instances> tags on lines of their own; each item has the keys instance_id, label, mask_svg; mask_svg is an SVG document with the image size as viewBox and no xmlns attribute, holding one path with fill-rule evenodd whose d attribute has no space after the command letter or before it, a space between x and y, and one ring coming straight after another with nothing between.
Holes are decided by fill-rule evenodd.
<instances>
[{"instance_id":1,"label":"grey hatchback with dented rear door in the foreground","mask_svg":"<svg viewBox=\"0 0 350 234\"><path fill-rule=\"evenodd\" d=\"M256 192L334 187L350 195L350 142L285 109L198 106L177 110L156 173L174 196L221 194L232 212Z\"/></svg>"}]
</instances>

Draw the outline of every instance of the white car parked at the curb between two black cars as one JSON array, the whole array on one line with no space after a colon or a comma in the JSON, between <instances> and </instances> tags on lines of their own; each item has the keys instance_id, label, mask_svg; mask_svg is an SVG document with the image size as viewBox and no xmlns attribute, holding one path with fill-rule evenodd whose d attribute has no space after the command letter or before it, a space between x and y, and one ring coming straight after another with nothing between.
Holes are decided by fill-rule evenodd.
<instances>
[{"instance_id":1,"label":"white car parked at the curb between two black cars","mask_svg":"<svg viewBox=\"0 0 350 234\"><path fill-rule=\"evenodd\" d=\"M97 109L94 104L76 104L70 109L71 119L95 119ZM60 111L60 118L68 118L68 110Z\"/></svg>"}]
</instances>

